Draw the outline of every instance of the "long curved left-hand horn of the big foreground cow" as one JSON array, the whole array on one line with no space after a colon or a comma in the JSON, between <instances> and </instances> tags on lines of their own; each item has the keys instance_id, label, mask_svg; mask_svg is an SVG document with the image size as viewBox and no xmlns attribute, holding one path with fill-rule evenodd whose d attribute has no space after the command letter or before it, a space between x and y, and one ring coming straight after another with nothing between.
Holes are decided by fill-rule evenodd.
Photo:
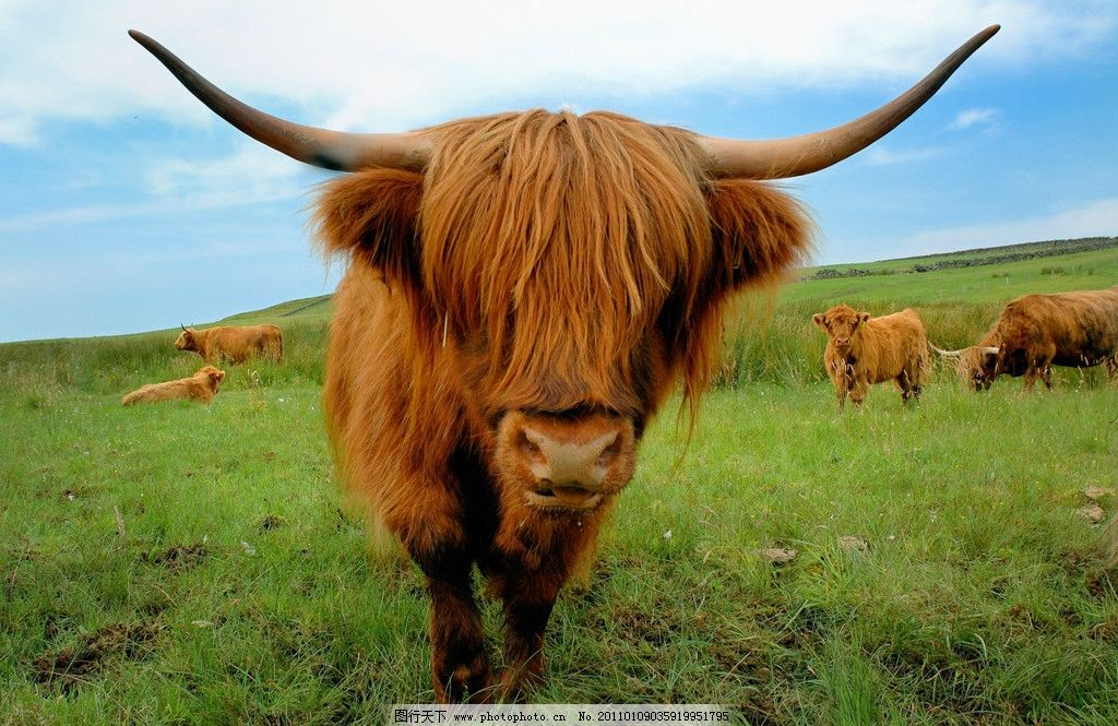
<instances>
[{"instance_id":1,"label":"long curved left-hand horn of the big foreground cow","mask_svg":"<svg viewBox=\"0 0 1118 726\"><path fill-rule=\"evenodd\" d=\"M356 171L366 167L421 171L430 157L430 142L418 133L344 133L304 126L257 111L215 86L139 30L129 30L129 35L214 113L293 159L334 171Z\"/></svg>"}]
</instances>

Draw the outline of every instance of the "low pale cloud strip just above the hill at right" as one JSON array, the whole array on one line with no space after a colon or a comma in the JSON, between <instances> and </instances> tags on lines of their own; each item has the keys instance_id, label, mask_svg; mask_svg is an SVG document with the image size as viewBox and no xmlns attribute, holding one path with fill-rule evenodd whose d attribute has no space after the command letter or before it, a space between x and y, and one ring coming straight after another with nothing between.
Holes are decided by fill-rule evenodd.
<instances>
[{"instance_id":1,"label":"low pale cloud strip just above the hill at right","mask_svg":"<svg viewBox=\"0 0 1118 726\"><path fill-rule=\"evenodd\" d=\"M910 256L1043 239L1115 235L1118 235L1118 197L1108 197L1052 215L921 232L901 241L896 248L899 251L897 256Z\"/></svg>"}]
</instances>

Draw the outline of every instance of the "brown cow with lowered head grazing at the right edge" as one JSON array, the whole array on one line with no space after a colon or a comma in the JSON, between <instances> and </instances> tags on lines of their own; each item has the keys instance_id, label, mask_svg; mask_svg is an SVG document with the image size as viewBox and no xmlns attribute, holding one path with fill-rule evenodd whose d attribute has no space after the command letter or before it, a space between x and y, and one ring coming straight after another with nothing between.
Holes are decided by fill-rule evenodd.
<instances>
[{"instance_id":1,"label":"brown cow with lowered head grazing at the right edge","mask_svg":"<svg viewBox=\"0 0 1118 726\"><path fill-rule=\"evenodd\" d=\"M936 351L956 358L959 376L975 390L987 390L1003 374L1024 376L1030 392L1036 379L1052 388L1052 366L1118 370L1118 287L1010 301L978 345Z\"/></svg>"}]
</instances>

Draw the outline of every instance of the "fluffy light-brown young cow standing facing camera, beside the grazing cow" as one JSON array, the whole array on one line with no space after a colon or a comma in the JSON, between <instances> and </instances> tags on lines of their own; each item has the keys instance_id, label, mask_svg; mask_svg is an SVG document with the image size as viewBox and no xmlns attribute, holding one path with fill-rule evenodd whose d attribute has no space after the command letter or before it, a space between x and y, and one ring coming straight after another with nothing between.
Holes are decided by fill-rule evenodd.
<instances>
[{"instance_id":1,"label":"fluffy light-brown young cow standing facing camera, beside the grazing cow","mask_svg":"<svg viewBox=\"0 0 1118 726\"><path fill-rule=\"evenodd\" d=\"M835 305L812 317L827 333L823 362L835 385L839 407L846 396L855 405L870 384L896 380L901 400L919 398L927 379L928 334L911 308L881 318Z\"/></svg>"}]
</instances>

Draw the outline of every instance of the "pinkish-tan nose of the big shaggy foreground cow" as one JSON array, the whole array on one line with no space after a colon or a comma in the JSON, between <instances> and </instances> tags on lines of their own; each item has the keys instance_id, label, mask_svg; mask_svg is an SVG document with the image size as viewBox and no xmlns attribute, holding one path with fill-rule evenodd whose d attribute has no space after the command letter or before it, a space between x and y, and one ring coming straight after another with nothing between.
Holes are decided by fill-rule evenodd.
<instances>
[{"instance_id":1,"label":"pinkish-tan nose of the big shaggy foreground cow","mask_svg":"<svg viewBox=\"0 0 1118 726\"><path fill-rule=\"evenodd\" d=\"M527 425L521 430L521 449L539 487L597 491L620 452L620 433L618 427L584 439Z\"/></svg>"}]
</instances>

